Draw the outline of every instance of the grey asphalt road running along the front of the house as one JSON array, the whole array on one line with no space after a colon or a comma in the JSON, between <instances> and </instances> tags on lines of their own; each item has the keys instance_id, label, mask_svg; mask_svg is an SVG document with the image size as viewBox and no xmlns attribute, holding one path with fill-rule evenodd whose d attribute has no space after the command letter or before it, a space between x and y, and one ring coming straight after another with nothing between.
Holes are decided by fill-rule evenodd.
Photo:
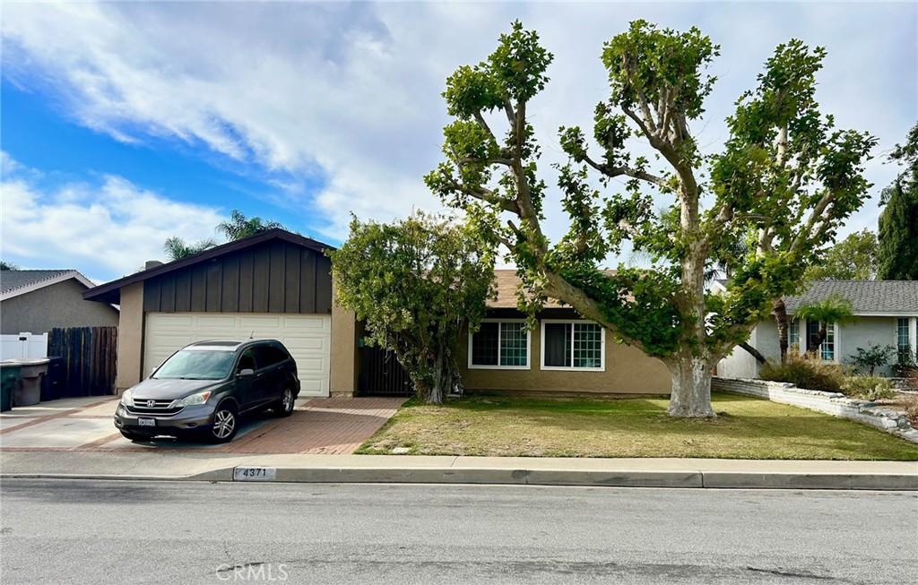
<instances>
[{"instance_id":1,"label":"grey asphalt road running along the front of the house","mask_svg":"<svg viewBox=\"0 0 918 585\"><path fill-rule=\"evenodd\" d=\"M918 494L5 480L12 583L905 583Z\"/></svg>"}]
</instances>

